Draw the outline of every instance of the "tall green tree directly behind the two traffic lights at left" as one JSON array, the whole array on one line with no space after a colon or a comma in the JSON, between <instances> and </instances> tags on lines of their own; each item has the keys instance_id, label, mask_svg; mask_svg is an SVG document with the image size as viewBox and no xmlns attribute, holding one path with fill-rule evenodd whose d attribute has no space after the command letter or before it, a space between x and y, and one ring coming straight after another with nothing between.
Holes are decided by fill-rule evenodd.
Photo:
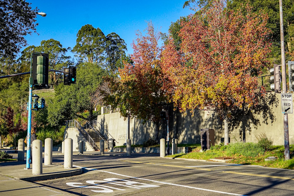
<instances>
[{"instance_id":1,"label":"tall green tree directly behind the two traffic lights at left","mask_svg":"<svg viewBox=\"0 0 294 196\"><path fill-rule=\"evenodd\" d=\"M70 56L66 56L67 49L62 48L62 44L54 39L43 40L41 45L35 48L35 52L49 54L49 70L61 70L68 67ZM49 86L56 86L62 82L63 75L60 72L49 72Z\"/></svg>"}]
</instances>

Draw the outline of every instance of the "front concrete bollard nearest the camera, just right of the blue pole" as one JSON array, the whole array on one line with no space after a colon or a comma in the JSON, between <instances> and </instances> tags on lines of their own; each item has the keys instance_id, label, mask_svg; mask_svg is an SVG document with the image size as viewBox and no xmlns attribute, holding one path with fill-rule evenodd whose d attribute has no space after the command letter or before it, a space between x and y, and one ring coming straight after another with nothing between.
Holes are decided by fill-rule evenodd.
<instances>
[{"instance_id":1,"label":"front concrete bollard nearest the camera, just right of the blue pole","mask_svg":"<svg viewBox=\"0 0 294 196\"><path fill-rule=\"evenodd\" d=\"M32 143L33 174L43 173L43 148L41 140L34 140Z\"/></svg>"}]
</instances>

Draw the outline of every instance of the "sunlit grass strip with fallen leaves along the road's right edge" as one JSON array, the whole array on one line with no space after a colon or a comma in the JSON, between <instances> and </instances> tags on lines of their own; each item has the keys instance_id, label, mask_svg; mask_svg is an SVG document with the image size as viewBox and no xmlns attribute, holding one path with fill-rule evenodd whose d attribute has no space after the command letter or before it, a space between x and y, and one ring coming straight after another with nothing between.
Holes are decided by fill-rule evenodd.
<instances>
[{"instance_id":1,"label":"sunlit grass strip with fallen leaves along the road's right edge","mask_svg":"<svg viewBox=\"0 0 294 196\"><path fill-rule=\"evenodd\" d=\"M246 143L243 143L246 144ZM246 148L247 151L252 153L252 156L245 156L240 153L231 154L231 150L229 148L233 147L221 147L217 145L216 148L212 150L206 150L205 152L200 152L200 147L193 148L191 153L187 154L176 154L176 155L167 155L166 157L173 157L173 158L188 158L188 159L202 159L202 160L209 160L216 157L231 157L233 160L227 161L226 163L235 163L235 164L243 164L243 165L260 165L264 167L272 167L272 168L283 168L283 169L294 169L294 145L290 145L290 160L284 160L284 146L272 146L272 148L268 151L263 153L258 153L255 155L256 146L253 147L244 147L242 143L238 143L235 146L243 146ZM250 149L251 148L251 149ZM277 160L274 161L265 161L265 158L270 156L274 156Z\"/></svg>"}]
</instances>

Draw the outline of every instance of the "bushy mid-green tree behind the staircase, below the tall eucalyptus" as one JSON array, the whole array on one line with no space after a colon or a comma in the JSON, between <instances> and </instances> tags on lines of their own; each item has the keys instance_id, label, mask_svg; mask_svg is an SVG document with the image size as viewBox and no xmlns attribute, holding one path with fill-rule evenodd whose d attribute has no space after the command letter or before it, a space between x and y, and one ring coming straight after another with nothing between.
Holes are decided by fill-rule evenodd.
<instances>
[{"instance_id":1,"label":"bushy mid-green tree behind the staircase, below the tall eucalyptus","mask_svg":"<svg viewBox=\"0 0 294 196\"><path fill-rule=\"evenodd\" d=\"M48 122L52 126L61 125L65 120L71 120L88 110L93 113L96 89L101 85L103 70L96 63L81 63L77 66L76 84L65 86L59 84L55 88L56 96L48 104Z\"/></svg>"}]
</instances>

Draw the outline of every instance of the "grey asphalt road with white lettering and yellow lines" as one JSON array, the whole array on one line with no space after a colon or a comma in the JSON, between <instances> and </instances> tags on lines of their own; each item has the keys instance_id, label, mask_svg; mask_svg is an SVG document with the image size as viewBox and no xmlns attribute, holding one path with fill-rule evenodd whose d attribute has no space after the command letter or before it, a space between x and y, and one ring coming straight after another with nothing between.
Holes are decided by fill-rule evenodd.
<instances>
[{"instance_id":1,"label":"grey asphalt road with white lettering and yellow lines","mask_svg":"<svg viewBox=\"0 0 294 196\"><path fill-rule=\"evenodd\" d=\"M293 170L166 159L158 154L80 155L74 156L73 164L84 173L36 183L69 195L294 195Z\"/></svg>"}]
</instances>

